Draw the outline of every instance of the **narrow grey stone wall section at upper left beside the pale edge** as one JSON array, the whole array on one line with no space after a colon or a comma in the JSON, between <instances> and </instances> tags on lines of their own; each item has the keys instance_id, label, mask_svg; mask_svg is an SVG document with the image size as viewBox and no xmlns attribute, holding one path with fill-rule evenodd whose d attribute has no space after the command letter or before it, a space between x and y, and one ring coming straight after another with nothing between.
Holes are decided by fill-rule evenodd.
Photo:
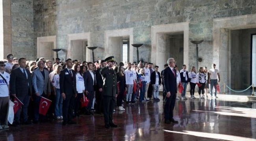
<instances>
[{"instance_id":1,"label":"narrow grey stone wall section at upper left beside the pale edge","mask_svg":"<svg viewBox=\"0 0 256 141\"><path fill-rule=\"evenodd\" d=\"M11 0L11 31L13 55L35 60L33 0Z\"/></svg>"}]
</instances>

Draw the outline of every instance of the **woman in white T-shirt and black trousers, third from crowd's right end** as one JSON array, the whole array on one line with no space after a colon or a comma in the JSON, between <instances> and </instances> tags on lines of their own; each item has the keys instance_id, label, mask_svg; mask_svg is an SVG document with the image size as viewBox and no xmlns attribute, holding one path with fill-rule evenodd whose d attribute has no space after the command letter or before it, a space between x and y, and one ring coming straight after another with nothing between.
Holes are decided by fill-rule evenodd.
<instances>
[{"instance_id":1,"label":"woman in white T-shirt and black trousers, third from crowd's right end","mask_svg":"<svg viewBox=\"0 0 256 141\"><path fill-rule=\"evenodd\" d=\"M205 87L205 82L206 82L206 75L204 73L204 68L200 67L199 72L197 73L197 83L199 83L201 86L198 87L198 94L200 98L204 98L204 87ZM201 96L202 92L202 96Z\"/></svg>"}]
</instances>

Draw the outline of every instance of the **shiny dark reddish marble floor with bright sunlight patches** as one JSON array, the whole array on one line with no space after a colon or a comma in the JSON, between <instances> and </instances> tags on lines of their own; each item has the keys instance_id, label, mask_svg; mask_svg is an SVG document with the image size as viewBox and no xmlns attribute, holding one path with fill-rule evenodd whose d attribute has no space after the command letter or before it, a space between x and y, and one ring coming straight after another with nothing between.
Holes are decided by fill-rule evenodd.
<instances>
[{"instance_id":1,"label":"shiny dark reddish marble floor with bright sunlight patches","mask_svg":"<svg viewBox=\"0 0 256 141\"><path fill-rule=\"evenodd\" d=\"M0 141L256 141L256 102L219 99L176 101L174 119L164 124L163 101L125 105L114 114L118 128L104 128L103 115L82 115L77 125L60 121L0 130Z\"/></svg>"}]
</instances>

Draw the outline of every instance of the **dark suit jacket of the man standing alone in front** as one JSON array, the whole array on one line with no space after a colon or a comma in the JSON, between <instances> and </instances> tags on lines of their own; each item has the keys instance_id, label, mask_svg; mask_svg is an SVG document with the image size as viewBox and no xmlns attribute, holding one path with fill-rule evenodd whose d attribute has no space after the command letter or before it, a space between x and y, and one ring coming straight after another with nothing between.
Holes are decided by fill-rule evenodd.
<instances>
[{"instance_id":1,"label":"dark suit jacket of the man standing alone in front","mask_svg":"<svg viewBox=\"0 0 256 141\"><path fill-rule=\"evenodd\" d=\"M166 92L171 92L171 95L177 93L177 84L176 84L176 70L173 71L170 69L170 67L167 67L163 71L163 83L165 87Z\"/></svg>"}]
</instances>

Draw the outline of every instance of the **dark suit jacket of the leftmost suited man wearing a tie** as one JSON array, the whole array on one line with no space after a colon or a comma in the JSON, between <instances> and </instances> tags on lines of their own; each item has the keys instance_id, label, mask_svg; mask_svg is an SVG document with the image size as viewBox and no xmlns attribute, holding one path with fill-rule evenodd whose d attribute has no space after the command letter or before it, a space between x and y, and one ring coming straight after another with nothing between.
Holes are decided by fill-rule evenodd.
<instances>
[{"instance_id":1,"label":"dark suit jacket of the leftmost suited man wearing a tie","mask_svg":"<svg viewBox=\"0 0 256 141\"><path fill-rule=\"evenodd\" d=\"M10 75L10 94L16 96L26 96L28 93L32 94L32 79L31 73L26 69L28 79L24 77L20 68L13 69Z\"/></svg>"}]
</instances>

